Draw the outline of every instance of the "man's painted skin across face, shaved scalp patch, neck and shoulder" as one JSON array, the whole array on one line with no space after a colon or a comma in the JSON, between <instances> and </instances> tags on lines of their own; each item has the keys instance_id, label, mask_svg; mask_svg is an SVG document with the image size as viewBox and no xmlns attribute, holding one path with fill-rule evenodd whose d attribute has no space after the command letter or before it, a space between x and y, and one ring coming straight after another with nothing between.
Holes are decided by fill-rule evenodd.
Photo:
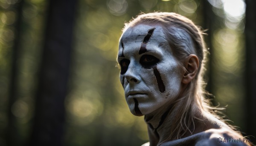
<instances>
[{"instance_id":1,"label":"man's painted skin across face, shaved scalp patch, neck and shoulder","mask_svg":"<svg viewBox=\"0 0 256 146\"><path fill-rule=\"evenodd\" d=\"M172 28L174 35L189 54L195 54L191 37L182 29ZM139 24L124 31L117 58L120 81L132 114L145 115L149 142L143 146L250 146L250 143L219 142L221 138L244 140L225 123L207 113L198 112L192 135L180 139L169 138L172 120L179 110L170 108L182 92L183 74L179 72L163 29L158 25Z\"/></svg>"}]
</instances>

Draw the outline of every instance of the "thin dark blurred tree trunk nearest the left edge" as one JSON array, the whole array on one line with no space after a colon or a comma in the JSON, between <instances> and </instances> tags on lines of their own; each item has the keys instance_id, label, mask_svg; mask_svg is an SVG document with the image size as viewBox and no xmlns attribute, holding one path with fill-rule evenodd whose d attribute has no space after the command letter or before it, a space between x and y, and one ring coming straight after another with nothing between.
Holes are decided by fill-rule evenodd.
<instances>
[{"instance_id":1,"label":"thin dark blurred tree trunk nearest the left edge","mask_svg":"<svg viewBox=\"0 0 256 146\"><path fill-rule=\"evenodd\" d=\"M14 10L16 13L16 22L13 24L15 39L13 42L12 50L12 68L10 74L10 83L9 83L9 101L7 106L8 114L8 124L6 129L6 143L9 146L17 146L20 144L20 136L17 132L17 117L12 114L12 105L17 100L17 78L19 72L19 63L18 58L20 57L20 40L21 40L21 29L22 29L22 7L23 0L15 5L11 6L9 10Z\"/></svg>"}]
</instances>

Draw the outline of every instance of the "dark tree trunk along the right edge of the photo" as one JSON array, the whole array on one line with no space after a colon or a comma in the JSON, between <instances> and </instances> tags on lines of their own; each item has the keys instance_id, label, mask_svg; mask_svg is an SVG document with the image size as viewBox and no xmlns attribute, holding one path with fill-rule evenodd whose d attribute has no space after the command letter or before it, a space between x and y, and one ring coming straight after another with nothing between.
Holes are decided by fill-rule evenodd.
<instances>
[{"instance_id":1,"label":"dark tree trunk along the right edge of the photo","mask_svg":"<svg viewBox=\"0 0 256 146\"><path fill-rule=\"evenodd\" d=\"M245 37L246 37L246 135L256 141L256 1L245 0Z\"/></svg>"}]
</instances>

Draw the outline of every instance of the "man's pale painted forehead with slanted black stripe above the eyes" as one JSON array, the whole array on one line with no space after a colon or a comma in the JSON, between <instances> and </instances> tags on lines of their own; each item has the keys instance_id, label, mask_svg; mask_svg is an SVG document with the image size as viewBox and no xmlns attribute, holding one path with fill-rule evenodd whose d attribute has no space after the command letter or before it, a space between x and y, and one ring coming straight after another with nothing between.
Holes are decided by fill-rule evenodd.
<instances>
[{"instance_id":1,"label":"man's pale painted forehead with slanted black stripe above the eyes","mask_svg":"<svg viewBox=\"0 0 256 146\"><path fill-rule=\"evenodd\" d=\"M128 51L128 49L140 49L143 41L146 39L148 39L146 42L146 48L148 51L154 51L156 46L169 46L167 45L167 40L161 26L140 24L134 27L129 27L122 34L119 42L118 56L122 56L123 52Z\"/></svg>"}]
</instances>

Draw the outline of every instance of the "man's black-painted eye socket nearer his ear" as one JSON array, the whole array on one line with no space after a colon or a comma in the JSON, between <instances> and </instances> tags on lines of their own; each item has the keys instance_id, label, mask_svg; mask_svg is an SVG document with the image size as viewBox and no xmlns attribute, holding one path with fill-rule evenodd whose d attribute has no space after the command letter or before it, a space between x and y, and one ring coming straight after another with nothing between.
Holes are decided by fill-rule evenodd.
<instances>
[{"instance_id":1,"label":"man's black-painted eye socket nearer his ear","mask_svg":"<svg viewBox=\"0 0 256 146\"><path fill-rule=\"evenodd\" d=\"M140 58L140 64L146 69L150 69L159 62L159 59L152 55L143 55Z\"/></svg>"}]
</instances>

